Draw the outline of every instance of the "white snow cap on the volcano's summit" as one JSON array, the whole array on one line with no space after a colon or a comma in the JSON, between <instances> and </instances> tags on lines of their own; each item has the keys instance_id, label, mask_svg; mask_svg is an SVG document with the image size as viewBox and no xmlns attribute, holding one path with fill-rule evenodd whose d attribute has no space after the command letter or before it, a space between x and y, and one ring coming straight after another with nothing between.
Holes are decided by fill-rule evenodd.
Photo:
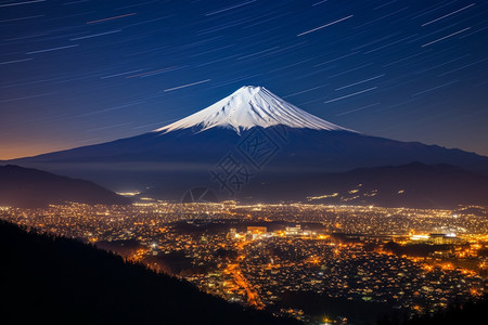
<instances>
[{"instance_id":1,"label":"white snow cap on the volcano's summit","mask_svg":"<svg viewBox=\"0 0 488 325\"><path fill-rule=\"evenodd\" d=\"M245 86L217 103L170 123L154 132L170 132L197 128L230 128L240 133L253 127L268 128L283 125L291 128L316 130L346 130L328 122L280 99L264 87Z\"/></svg>"}]
</instances>

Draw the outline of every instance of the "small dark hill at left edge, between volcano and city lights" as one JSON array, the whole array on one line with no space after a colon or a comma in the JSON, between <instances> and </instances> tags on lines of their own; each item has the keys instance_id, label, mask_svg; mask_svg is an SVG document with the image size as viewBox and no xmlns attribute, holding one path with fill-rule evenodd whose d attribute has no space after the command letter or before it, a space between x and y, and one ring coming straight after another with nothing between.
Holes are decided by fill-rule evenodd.
<instances>
[{"instance_id":1,"label":"small dark hill at left edge, between volcano and city lights","mask_svg":"<svg viewBox=\"0 0 488 325\"><path fill-rule=\"evenodd\" d=\"M0 205L36 208L49 204L128 204L92 182L13 165L0 166Z\"/></svg>"}]
</instances>

